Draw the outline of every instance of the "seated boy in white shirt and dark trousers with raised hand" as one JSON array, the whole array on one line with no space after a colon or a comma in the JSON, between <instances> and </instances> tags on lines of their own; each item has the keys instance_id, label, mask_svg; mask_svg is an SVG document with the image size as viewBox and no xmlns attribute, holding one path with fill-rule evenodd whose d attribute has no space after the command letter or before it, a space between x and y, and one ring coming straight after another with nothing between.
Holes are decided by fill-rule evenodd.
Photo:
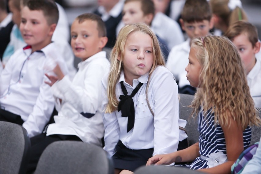
<instances>
[{"instance_id":1,"label":"seated boy in white shirt and dark trousers with raised hand","mask_svg":"<svg viewBox=\"0 0 261 174\"><path fill-rule=\"evenodd\" d=\"M51 82L46 83L56 98L58 115L46 133L31 138L28 172L35 170L40 155L52 142L75 140L101 146L101 79L110 67L106 52L102 51L108 40L105 24L96 14L82 14L71 26L71 38L74 54L82 61L73 81L64 76L59 66L54 69L56 76L47 75Z\"/></svg>"}]
</instances>

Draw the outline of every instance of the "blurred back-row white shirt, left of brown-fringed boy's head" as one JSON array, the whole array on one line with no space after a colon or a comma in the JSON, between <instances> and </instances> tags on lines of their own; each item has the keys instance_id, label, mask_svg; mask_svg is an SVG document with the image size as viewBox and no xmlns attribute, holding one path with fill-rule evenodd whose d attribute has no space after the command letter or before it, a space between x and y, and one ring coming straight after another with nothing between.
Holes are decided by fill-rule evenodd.
<instances>
[{"instance_id":1,"label":"blurred back-row white shirt, left of brown-fringed boy's head","mask_svg":"<svg viewBox=\"0 0 261 174\"><path fill-rule=\"evenodd\" d=\"M163 13L155 14L151 29L167 43L169 49L184 42L180 25Z\"/></svg>"}]
</instances>

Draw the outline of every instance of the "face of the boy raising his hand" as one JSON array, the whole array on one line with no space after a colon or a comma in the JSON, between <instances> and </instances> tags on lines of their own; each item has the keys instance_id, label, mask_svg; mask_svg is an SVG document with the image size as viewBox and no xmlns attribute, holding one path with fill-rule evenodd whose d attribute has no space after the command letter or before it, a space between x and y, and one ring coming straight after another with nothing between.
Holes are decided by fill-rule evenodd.
<instances>
[{"instance_id":1,"label":"face of the boy raising his hand","mask_svg":"<svg viewBox=\"0 0 261 174\"><path fill-rule=\"evenodd\" d=\"M74 20L71 26L71 46L74 55L82 61L102 51L107 43L107 37L99 37L97 22L85 20L79 23Z\"/></svg>"}]
</instances>

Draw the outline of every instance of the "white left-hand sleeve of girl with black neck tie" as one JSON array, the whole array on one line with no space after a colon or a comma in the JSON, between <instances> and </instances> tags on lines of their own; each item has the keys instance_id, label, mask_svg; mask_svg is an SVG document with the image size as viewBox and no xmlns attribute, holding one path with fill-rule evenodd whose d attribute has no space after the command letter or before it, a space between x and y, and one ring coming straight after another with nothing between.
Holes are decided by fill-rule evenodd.
<instances>
[{"instance_id":1,"label":"white left-hand sleeve of girl with black neck tie","mask_svg":"<svg viewBox=\"0 0 261 174\"><path fill-rule=\"evenodd\" d=\"M116 117L115 112L112 113L105 113L105 107L108 104L108 97L106 93L106 85L103 82L103 90L102 90L102 109L103 109L103 114L102 114L102 119L103 119L103 124L105 127L105 133L104 133L104 150L108 152L108 154L112 157L116 153L115 146L117 142L119 141L119 123Z\"/></svg>"}]
</instances>

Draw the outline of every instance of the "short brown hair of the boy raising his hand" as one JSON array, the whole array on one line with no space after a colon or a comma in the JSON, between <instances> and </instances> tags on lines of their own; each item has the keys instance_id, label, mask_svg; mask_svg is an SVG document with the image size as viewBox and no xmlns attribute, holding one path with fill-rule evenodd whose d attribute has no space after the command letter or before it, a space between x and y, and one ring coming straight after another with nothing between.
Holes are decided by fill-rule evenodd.
<instances>
[{"instance_id":1,"label":"short brown hair of the boy raising his hand","mask_svg":"<svg viewBox=\"0 0 261 174\"><path fill-rule=\"evenodd\" d=\"M98 16L94 13L84 13L84 14L81 14L78 17L76 17L75 20L78 20L79 24L83 23L86 20L96 21L99 37L107 36L106 26L100 16Z\"/></svg>"}]
</instances>

